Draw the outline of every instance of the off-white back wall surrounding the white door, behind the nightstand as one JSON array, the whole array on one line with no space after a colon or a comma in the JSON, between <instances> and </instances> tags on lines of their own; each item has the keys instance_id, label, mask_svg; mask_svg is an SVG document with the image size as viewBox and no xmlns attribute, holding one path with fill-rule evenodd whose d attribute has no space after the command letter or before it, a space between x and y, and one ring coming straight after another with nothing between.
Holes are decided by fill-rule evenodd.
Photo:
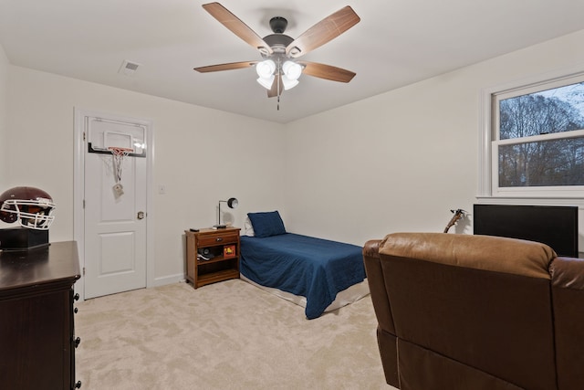
<instances>
[{"instance_id":1,"label":"off-white back wall surrounding the white door, behind the nightstand","mask_svg":"<svg viewBox=\"0 0 584 390\"><path fill-rule=\"evenodd\" d=\"M248 211L283 206L281 125L68 79L31 69L9 71L11 170L7 184L33 185L57 203L49 237L73 239L74 108L149 119L154 127L155 279L183 274L183 231L210 227L219 199L243 227Z\"/></svg>"}]
</instances>

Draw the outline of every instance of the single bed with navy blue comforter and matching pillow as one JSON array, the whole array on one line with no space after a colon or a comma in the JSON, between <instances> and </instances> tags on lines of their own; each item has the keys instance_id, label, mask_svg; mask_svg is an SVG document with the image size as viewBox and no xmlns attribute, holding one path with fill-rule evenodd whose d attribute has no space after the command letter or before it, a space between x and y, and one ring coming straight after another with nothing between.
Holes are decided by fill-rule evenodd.
<instances>
[{"instance_id":1,"label":"single bed with navy blue comforter and matching pillow","mask_svg":"<svg viewBox=\"0 0 584 390\"><path fill-rule=\"evenodd\" d=\"M308 320L369 294L361 247L288 233L277 211L248 217L242 279L304 306Z\"/></svg>"}]
</instances>

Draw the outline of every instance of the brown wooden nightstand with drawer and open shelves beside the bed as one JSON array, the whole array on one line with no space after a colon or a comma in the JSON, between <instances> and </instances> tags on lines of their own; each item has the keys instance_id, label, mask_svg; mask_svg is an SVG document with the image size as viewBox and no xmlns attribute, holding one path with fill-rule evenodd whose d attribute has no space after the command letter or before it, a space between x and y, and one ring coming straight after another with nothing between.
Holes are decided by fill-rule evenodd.
<instances>
[{"instance_id":1,"label":"brown wooden nightstand with drawer and open shelves beside the bed","mask_svg":"<svg viewBox=\"0 0 584 390\"><path fill-rule=\"evenodd\" d=\"M185 230L186 279L199 288L239 278L239 227ZM198 255L198 256L197 256Z\"/></svg>"}]
</instances>

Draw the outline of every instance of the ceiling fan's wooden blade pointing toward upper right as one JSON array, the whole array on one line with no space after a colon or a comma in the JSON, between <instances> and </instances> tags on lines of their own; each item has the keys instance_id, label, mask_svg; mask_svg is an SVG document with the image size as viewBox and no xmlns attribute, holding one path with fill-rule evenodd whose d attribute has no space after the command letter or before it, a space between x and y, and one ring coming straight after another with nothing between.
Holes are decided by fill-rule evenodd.
<instances>
[{"instance_id":1,"label":"ceiling fan's wooden blade pointing toward upper right","mask_svg":"<svg viewBox=\"0 0 584 390\"><path fill-rule=\"evenodd\" d=\"M304 34L297 37L286 47L286 54L293 58L304 56L309 51L321 47L335 37L339 37L350 27L358 24L360 20L353 8L347 5L308 28Z\"/></svg>"}]
</instances>

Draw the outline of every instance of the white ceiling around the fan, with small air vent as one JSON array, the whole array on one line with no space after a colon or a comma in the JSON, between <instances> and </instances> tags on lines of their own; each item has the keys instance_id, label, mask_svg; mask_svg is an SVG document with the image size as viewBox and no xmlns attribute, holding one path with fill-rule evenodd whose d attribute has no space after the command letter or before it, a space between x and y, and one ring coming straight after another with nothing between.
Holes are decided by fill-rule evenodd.
<instances>
[{"instance_id":1,"label":"white ceiling around the fan, with small air vent","mask_svg":"<svg viewBox=\"0 0 584 390\"><path fill-rule=\"evenodd\" d=\"M302 76L276 98L255 69L194 67L261 59L198 0L0 0L11 64L286 123L584 29L582 0L222 0L259 36L272 16L296 38L345 5L361 21L302 59L357 73L349 84ZM122 61L141 64L132 76Z\"/></svg>"}]
</instances>

